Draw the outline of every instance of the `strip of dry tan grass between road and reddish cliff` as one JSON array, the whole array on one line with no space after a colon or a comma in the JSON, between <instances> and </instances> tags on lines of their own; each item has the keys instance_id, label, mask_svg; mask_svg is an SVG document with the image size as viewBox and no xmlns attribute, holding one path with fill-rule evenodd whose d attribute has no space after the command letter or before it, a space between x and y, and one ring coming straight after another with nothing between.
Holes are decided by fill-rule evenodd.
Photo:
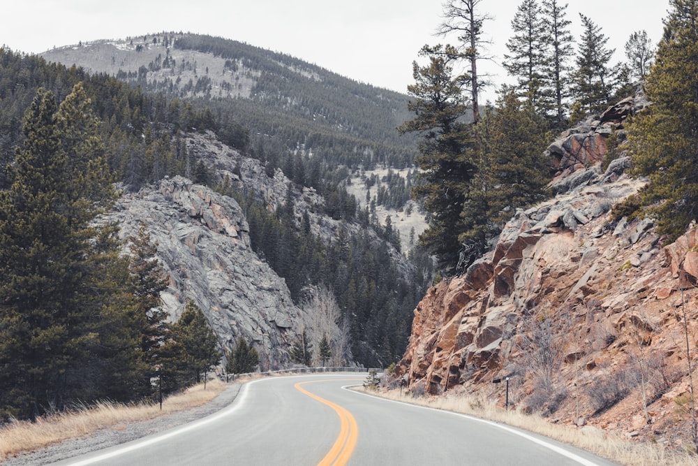
<instances>
[{"instance_id":1,"label":"strip of dry tan grass between road and reddish cliff","mask_svg":"<svg viewBox=\"0 0 698 466\"><path fill-rule=\"evenodd\" d=\"M357 388L357 390L363 390L363 388ZM698 466L698 456L692 453L670 450L658 444L630 442L628 439L611 435L600 429L580 429L573 425L551 423L541 416L524 414L518 409L506 412L489 400L482 400L470 395L449 393L436 397L413 398L408 393L401 395L396 390L366 391L366 393L512 425L565 444L577 446L622 465Z\"/></svg>"}]
</instances>

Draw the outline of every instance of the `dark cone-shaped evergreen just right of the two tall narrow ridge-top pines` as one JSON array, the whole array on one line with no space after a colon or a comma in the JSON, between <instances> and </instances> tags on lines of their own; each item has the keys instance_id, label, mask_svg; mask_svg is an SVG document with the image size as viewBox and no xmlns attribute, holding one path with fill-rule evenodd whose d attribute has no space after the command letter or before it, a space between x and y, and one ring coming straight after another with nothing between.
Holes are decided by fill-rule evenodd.
<instances>
[{"instance_id":1,"label":"dark cone-shaped evergreen just right of the two tall narrow ridge-top pines","mask_svg":"<svg viewBox=\"0 0 698 466\"><path fill-rule=\"evenodd\" d=\"M614 94L620 66L611 66L615 49L606 48L607 36L588 17L579 14L584 32L579 43L572 92L581 112L600 112Z\"/></svg>"}]
</instances>

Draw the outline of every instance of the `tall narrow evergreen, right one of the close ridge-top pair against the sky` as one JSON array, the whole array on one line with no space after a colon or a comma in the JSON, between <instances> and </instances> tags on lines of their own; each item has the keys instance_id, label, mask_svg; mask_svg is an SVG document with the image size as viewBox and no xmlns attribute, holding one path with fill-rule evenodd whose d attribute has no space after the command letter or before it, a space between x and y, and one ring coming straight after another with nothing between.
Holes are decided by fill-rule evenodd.
<instances>
[{"instance_id":1,"label":"tall narrow evergreen, right one of the close ridge-top pair against the sky","mask_svg":"<svg viewBox=\"0 0 698 466\"><path fill-rule=\"evenodd\" d=\"M546 97L552 96L554 103L554 126L563 129L567 117L567 97L569 97L570 66L567 60L574 56L574 38L570 33L570 20L565 19L564 6L558 0L543 0L542 13L544 29L549 34L550 49L544 66L547 75Z\"/></svg>"}]
</instances>

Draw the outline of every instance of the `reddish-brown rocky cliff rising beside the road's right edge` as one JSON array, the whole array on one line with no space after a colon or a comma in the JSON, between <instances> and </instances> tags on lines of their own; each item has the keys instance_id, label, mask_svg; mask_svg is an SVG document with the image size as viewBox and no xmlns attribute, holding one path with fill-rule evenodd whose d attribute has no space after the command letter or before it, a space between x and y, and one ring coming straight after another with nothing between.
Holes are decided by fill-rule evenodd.
<instances>
[{"instance_id":1,"label":"reddish-brown rocky cliff rising beside the road's right edge","mask_svg":"<svg viewBox=\"0 0 698 466\"><path fill-rule=\"evenodd\" d=\"M664 245L651 219L611 221L644 181L625 173L622 145L600 168L644 105L629 99L563 133L548 150L556 196L517 212L491 252L429 290L396 368L413 393L503 403L493 381L509 377L511 402L555 421L660 442L690 436L698 230Z\"/></svg>"}]
</instances>

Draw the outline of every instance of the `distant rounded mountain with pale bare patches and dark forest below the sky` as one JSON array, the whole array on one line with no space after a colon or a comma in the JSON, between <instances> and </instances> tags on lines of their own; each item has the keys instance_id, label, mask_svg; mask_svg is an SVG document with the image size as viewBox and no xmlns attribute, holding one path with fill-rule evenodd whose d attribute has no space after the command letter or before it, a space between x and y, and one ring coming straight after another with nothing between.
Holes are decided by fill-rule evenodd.
<instances>
[{"instance_id":1,"label":"distant rounded mountain with pale bare patches and dark forest below the sky","mask_svg":"<svg viewBox=\"0 0 698 466\"><path fill-rule=\"evenodd\" d=\"M267 173L280 168L326 203L332 193L348 191L381 226L390 217L405 253L414 245L410 238L426 228L419 205L410 200L417 182L410 173L416 136L396 131L410 117L405 94L285 54L197 34L92 41L41 56L114 76L165 96L170 105L181 99L214 112L218 138L260 160Z\"/></svg>"}]
</instances>

